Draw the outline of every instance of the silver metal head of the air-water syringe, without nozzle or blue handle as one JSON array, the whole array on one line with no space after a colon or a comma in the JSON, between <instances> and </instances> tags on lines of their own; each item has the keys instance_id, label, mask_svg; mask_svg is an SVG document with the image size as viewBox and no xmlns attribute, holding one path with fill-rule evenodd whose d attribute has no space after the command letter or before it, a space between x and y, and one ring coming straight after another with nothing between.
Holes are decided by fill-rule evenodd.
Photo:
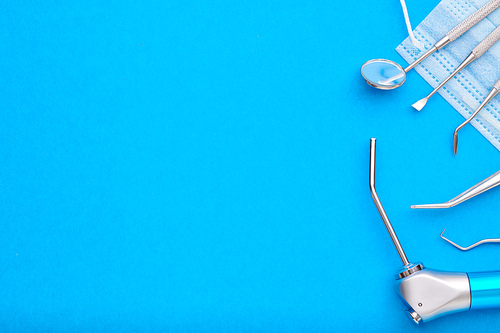
<instances>
[{"instance_id":1,"label":"silver metal head of the air-water syringe, without nozzle or blue handle","mask_svg":"<svg viewBox=\"0 0 500 333\"><path fill-rule=\"evenodd\" d=\"M397 280L396 286L401 298L423 322L470 308L466 273L424 269Z\"/></svg>"}]
</instances>

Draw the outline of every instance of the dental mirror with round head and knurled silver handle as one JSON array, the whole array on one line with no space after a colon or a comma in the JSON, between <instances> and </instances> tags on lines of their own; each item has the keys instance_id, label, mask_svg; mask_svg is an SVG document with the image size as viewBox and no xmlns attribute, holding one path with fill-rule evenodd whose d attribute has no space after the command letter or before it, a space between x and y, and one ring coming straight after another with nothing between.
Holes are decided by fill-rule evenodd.
<instances>
[{"instance_id":1,"label":"dental mirror with round head and knurled silver handle","mask_svg":"<svg viewBox=\"0 0 500 333\"><path fill-rule=\"evenodd\" d=\"M404 68L394 61L387 59L373 59L361 66L361 75L366 82L377 89L390 90L403 85L406 81L406 73L417 66L435 51L443 48L449 43L462 36L467 30L500 7L500 0L491 0L483 7L476 10L472 15L451 29L446 36L440 39L434 46L424 52L417 60Z\"/></svg>"}]
</instances>

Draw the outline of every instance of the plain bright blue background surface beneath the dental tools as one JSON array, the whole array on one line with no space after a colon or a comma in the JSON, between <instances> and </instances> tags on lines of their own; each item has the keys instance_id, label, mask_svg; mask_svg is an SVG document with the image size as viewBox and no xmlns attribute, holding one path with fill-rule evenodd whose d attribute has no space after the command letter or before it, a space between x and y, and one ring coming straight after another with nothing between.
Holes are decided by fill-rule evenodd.
<instances>
[{"instance_id":1,"label":"plain bright blue background surface beneath the dental tools","mask_svg":"<svg viewBox=\"0 0 500 333\"><path fill-rule=\"evenodd\" d=\"M408 1L414 26L437 1ZM488 331L500 310L414 326L411 261L499 270L499 152L404 64L398 1L11 1L0 12L0 330ZM498 326L496 326L498 327Z\"/></svg>"}]
</instances>

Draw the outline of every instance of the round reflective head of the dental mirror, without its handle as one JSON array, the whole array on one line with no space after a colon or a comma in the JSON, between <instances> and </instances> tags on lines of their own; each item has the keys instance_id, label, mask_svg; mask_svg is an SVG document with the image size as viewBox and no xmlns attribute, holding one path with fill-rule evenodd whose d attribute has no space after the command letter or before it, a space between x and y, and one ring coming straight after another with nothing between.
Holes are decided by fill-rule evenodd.
<instances>
[{"instance_id":1,"label":"round reflective head of the dental mirror, without its handle","mask_svg":"<svg viewBox=\"0 0 500 333\"><path fill-rule=\"evenodd\" d=\"M403 67L394 61L373 59L361 66L361 75L372 87L390 90L405 83L406 72Z\"/></svg>"}]
</instances>

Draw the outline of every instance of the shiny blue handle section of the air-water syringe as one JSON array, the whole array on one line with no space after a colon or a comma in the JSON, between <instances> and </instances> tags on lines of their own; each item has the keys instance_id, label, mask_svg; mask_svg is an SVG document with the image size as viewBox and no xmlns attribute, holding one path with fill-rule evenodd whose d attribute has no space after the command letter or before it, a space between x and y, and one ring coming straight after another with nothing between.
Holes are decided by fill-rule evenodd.
<instances>
[{"instance_id":1,"label":"shiny blue handle section of the air-water syringe","mask_svg":"<svg viewBox=\"0 0 500 333\"><path fill-rule=\"evenodd\" d=\"M467 273L472 309L500 307L500 271Z\"/></svg>"}]
</instances>

